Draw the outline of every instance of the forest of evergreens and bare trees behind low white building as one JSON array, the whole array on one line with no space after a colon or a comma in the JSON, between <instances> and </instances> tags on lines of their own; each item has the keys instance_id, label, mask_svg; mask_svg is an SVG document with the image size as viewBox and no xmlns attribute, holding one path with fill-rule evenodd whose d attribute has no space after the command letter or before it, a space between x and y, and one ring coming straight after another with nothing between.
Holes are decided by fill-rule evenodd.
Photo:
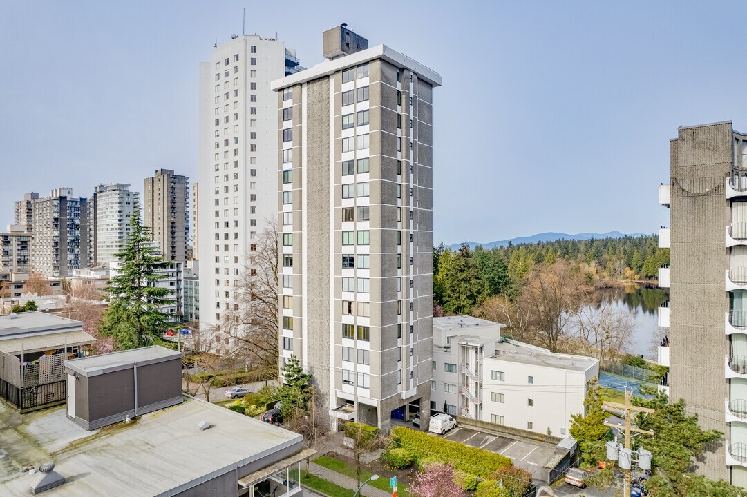
<instances>
[{"instance_id":1,"label":"forest of evergreens and bare trees behind low white building","mask_svg":"<svg viewBox=\"0 0 747 497\"><path fill-rule=\"evenodd\" d=\"M551 351L618 360L634 323L595 291L657 277L669 250L657 237L433 248L434 316L477 316Z\"/></svg>"}]
</instances>

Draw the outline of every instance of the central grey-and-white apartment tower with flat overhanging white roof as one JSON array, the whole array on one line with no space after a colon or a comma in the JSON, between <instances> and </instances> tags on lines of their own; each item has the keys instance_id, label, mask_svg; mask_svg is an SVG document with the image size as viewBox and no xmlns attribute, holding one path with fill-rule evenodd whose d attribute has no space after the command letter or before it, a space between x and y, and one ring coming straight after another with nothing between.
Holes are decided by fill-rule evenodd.
<instances>
[{"instance_id":1,"label":"central grey-and-white apartment tower with flat overhanging white roof","mask_svg":"<svg viewBox=\"0 0 747 497\"><path fill-rule=\"evenodd\" d=\"M387 431L412 405L427 424L441 76L343 26L323 33L323 55L272 84L281 363L300 357L333 421Z\"/></svg>"}]
</instances>

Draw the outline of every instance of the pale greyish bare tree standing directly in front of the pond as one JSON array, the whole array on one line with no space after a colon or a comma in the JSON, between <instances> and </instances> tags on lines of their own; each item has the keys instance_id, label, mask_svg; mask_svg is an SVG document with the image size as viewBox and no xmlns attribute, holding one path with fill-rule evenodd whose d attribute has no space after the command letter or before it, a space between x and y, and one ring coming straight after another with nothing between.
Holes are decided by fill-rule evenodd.
<instances>
[{"instance_id":1,"label":"pale greyish bare tree standing directly in front of the pond","mask_svg":"<svg viewBox=\"0 0 747 497\"><path fill-rule=\"evenodd\" d=\"M610 301L580 307L575 328L580 353L596 357L600 363L618 360L627 352L630 335L636 328L627 310L616 309Z\"/></svg>"}]
</instances>

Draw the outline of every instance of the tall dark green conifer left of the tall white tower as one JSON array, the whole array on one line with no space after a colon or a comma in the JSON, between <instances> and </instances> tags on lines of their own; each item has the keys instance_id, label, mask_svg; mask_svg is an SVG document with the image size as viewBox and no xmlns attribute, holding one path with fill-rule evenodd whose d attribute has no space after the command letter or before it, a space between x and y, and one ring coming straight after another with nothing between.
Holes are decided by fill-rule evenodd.
<instances>
[{"instance_id":1,"label":"tall dark green conifer left of the tall white tower","mask_svg":"<svg viewBox=\"0 0 747 497\"><path fill-rule=\"evenodd\" d=\"M169 289L155 286L156 282L167 278L158 274L167 263L153 246L150 231L141 224L139 208L132 214L130 227L130 237L123 251L116 254L120 260L120 274L110 278L105 288L109 293L109 308L101 333L113 337L117 349L151 345L169 319L161 313L161 307L173 303L167 299Z\"/></svg>"}]
</instances>

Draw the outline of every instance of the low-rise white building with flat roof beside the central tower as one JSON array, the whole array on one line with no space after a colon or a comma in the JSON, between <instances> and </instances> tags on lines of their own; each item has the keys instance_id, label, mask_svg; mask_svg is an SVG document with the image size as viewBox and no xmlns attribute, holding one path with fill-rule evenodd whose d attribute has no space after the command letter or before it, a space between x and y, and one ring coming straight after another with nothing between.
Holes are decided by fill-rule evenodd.
<instances>
[{"instance_id":1,"label":"low-rise white building with flat roof beside the central tower","mask_svg":"<svg viewBox=\"0 0 747 497\"><path fill-rule=\"evenodd\" d=\"M567 436L599 361L502 339L503 326L471 316L433 319L431 409Z\"/></svg>"}]
</instances>

